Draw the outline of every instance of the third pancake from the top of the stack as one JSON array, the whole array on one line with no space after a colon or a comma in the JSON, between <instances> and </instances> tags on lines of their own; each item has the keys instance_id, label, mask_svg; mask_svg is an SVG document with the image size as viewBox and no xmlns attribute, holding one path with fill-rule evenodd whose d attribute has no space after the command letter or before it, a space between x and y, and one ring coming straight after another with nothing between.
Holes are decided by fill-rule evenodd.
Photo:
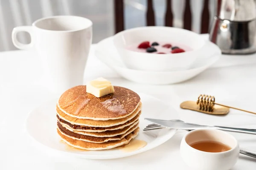
<instances>
[{"instance_id":1,"label":"third pancake from the top of the stack","mask_svg":"<svg viewBox=\"0 0 256 170\"><path fill-rule=\"evenodd\" d=\"M56 115L56 116L57 116L58 121L61 123L61 125L66 127L70 131L105 132L107 130L122 129L122 128L125 128L125 127L133 124L134 122L139 120L140 113L141 113L141 111L134 118L132 118L131 120L125 122L124 124L116 125L116 126L111 126L111 127L90 127L90 126L72 125L71 123L69 123L69 122L59 118L58 115Z\"/></svg>"}]
</instances>

